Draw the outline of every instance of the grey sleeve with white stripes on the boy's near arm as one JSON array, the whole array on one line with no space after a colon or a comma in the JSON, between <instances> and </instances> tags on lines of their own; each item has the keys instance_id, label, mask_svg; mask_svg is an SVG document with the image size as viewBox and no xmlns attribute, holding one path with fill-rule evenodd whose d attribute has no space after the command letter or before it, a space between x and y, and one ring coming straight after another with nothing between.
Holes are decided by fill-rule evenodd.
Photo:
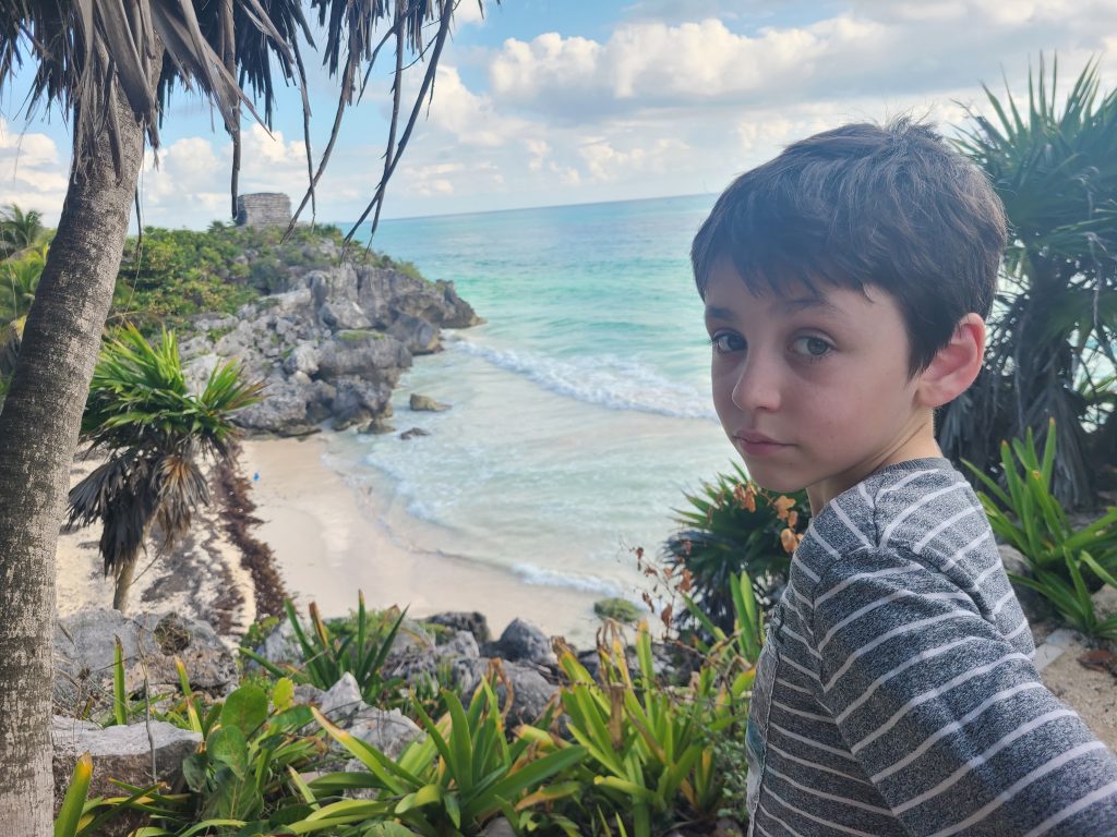
<instances>
[{"instance_id":1,"label":"grey sleeve with white stripes on the boy's near arm","mask_svg":"<svg viewBox=\"0 0 1117 837\"><path fill-rule=\"evenodd\" d=\"M822 702L910 834L1117 834L1113 753L944 575L837 561L812 629Z\"/></svg>"}]
</instances>

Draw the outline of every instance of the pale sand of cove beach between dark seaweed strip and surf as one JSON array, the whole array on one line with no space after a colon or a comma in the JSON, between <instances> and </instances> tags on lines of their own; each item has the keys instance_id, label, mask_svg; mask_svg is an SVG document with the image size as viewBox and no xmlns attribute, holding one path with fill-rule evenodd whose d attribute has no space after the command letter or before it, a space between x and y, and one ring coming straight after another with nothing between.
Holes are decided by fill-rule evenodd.
<instances>
[{"instance_id":1,"label":"pale sand of cove beach between dark seaweed strip and surf","mask_svg":"<svg viewBox=\"0 0 1117 837\"><path fill-rule=\"evenodd\" d=\"M288 590L326 615L356 607L364 590L369 607L410 605L409 614L479 610L494 636L515 617L579 647L592 645L599 620L592 593L528 585L497 567L408 542L408 532L389 531L378 499L349 485L322 460L325 440L246 442L244 473L252 482L256 537L275 552Z\"/></svg>"}]
</instances>

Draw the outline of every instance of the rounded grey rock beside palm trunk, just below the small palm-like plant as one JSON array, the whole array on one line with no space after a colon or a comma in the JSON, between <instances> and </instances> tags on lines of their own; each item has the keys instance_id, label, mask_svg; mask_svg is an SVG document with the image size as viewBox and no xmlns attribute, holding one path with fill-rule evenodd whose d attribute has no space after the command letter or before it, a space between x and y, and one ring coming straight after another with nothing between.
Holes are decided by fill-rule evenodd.
<instances>
[{"instance_id":1,"label":"rounded grey rock beside palm trunk, just below the small palm-like plant","mask_svg":"<svg viewBox=\"0 0 1117 837\"><path fill-rule=\"evenodd\" d=\"M220 694L237 682L237 662L212 627L175 614L118 610L80 610L55 626L55 701L75 711L92 700L108 705L113 682L114 637L124 654L124 684L128 693L142 689L144 665L151 687L178 686L178 656L185 665L192 689ZM143 661L141 660L143 656Z\"/></svg>"}]
</instances>

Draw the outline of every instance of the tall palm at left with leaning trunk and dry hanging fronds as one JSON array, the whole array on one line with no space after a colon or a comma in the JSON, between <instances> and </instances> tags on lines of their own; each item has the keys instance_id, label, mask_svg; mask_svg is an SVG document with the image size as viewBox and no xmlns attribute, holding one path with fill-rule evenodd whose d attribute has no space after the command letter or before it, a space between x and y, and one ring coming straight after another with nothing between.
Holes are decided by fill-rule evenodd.
<instances>
[{"instance_id":1,"label":"tall palm at left with leaning trunk and dry hanging fronds","mask_svg":"<svg viewBox=\"0 0 1117 837\"><path fill-rule=\"evenodd\" d=\"M277 81L304 90L311 45L304 7L326 32L341 75L337 114L364 88L384 46L394 54L384 187L422 105L458 0L8 0L0 4L0 88L35 68L28 108L58 106L73 125L69 184L0 411L0 820L8 833L51 831L49 648L54 554L82 410L97 362L145 145L175 86L203 93L233 141L241 108L270 121ZM433 38L428 41L428 29ZM408 54L426 59L397 132ZM241 86L244 85L244 87ZM407 113L407 112L404 112ZM334 136L337 133L335 119ZM311 164L307 142L308 170ZM321 169L321 164L319 164ZM312 198L313 208L313 198Z\"/></svg>"}]
</instances>

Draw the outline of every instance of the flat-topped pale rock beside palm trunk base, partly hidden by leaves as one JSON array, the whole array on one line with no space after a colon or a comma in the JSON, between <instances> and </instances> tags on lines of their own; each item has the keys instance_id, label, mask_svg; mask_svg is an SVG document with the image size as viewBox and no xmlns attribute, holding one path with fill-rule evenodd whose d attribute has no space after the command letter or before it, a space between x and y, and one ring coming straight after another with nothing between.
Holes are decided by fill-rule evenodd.
<instances>
[{"instance_id":1,"label":"flat-topped pale rock beside palm trunk base, partly hidden by leaves","mask_svg":"<svg viewBox=\"0 0 1117 837\"><path fill-rule=\"evenodd\" d=\"M198 749L202 737L180 730L163 721L151 722L151 739L145 723L101 729L95 723L55 715L50 737L54 742L55 812L69 786L74 766L82 753L93 756L93 780L89 797L120 796L121 789L109 778L131 785L153 785L151 776L152 741L155 751L155 777L172 785L179 777L182 760ZM98 831L102 835L124 835L136 822L114 820Z\"/></svg>"}]
</instances>

